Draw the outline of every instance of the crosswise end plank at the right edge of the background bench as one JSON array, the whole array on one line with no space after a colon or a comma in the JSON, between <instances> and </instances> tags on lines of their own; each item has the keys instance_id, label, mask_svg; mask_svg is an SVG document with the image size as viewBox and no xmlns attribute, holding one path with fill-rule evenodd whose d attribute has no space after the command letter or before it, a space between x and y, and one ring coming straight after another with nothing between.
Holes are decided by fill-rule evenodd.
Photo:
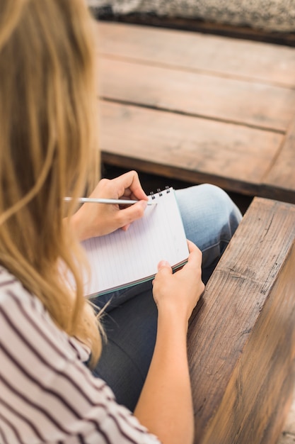
<instances>
[{"instance_id":1,"label":"crosswise end plank at the right edge of the background bench","mask_svg":"<svg viewBox=\"0 0 295 444\"><path fill-rule=\"evenodd\" d=\"M295 118L277 157L263 179L261 194L295 204Z\"/></svg>"}]
</instances>

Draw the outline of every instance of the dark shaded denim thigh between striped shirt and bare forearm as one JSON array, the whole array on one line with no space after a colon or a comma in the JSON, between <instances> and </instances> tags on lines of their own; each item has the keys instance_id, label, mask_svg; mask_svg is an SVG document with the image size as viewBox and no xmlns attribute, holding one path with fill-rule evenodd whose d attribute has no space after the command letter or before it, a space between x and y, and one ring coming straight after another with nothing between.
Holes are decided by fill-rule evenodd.
<instances>
[{"instance_id":1,"label":"dark shaded denim thigh between striped shirt and bare forearm","mask_svg":"<svg viewBox=\"0 0 295 444\"><path fill-rule=\"evenodd\" d=\"M117 402L131 411L149 370L156 343L158 311L151 282L137 287L136 297L103 316L108 342L93 374L111 387Z\"/></svg>"}]
</instances>

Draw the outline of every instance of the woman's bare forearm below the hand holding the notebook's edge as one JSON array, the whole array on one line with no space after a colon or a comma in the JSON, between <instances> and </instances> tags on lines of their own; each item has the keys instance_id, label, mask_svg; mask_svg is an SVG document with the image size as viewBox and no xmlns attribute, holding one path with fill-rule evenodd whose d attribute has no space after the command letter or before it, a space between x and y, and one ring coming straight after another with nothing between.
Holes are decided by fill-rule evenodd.
<instances>
[{"instance_id":1,"label":"woman's bare forearm below the hand holding the notebook's edge","mask_svg":"<svg viewBox=\"0 0 295 444\"><path fill-rule=\"evenodd\" d=\"M177 316L159 313L154 356L134 414L163 444L192 443L187 323Z\"/></svg>"}]
</instances>

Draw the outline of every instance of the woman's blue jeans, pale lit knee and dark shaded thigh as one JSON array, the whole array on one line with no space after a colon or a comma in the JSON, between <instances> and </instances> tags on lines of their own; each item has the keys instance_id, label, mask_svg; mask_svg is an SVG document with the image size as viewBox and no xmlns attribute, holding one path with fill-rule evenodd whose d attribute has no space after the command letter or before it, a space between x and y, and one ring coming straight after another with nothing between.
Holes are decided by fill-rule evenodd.
<instances>
[{"instance_id":1,"label":"woman's blue jeans, pale lit knee and dark shaded thigh","mask_svg":"<svg viewBox=\"0 0 295 444\"><path fill-rule=\"evenodd\" d=\"M202 279L206 283L241 221L241 212L214 185L175 193L187 239L202 250ZM156 341L157 309L151 282L94 299L98 307L108 301L103 317L108 342L93 374L108 383L118 403L134 410Z\"/></svg>"}]
</instances>

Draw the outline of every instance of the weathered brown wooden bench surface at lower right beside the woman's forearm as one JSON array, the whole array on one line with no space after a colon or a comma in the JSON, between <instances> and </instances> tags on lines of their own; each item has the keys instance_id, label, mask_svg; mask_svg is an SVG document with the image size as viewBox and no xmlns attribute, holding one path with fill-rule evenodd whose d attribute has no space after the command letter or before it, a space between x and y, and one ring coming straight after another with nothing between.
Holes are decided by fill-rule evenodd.
<instances>
[{"instance_id":1,"label":"weathered brown wooden bench surface at lower right beside the woman's forearm","mask_svg":"<svg viewBox=\"0 0 295 444\"><path fill-rule=\"evenodd\" d=\"M274 444L292 398L295 206L255 198L193 313L195 444Z\"/></svg>"}]
</instances>

